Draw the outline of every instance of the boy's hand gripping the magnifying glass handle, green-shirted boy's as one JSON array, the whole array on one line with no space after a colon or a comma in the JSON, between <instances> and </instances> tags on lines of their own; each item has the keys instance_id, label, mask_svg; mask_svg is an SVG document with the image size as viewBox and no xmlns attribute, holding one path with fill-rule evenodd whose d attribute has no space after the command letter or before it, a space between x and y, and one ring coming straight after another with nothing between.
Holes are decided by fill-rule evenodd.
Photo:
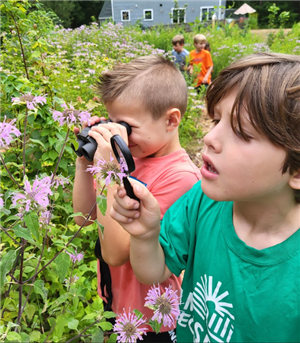
<instances>
[{"instance_id":1,"label":"boy's hand gripping the magnifying glass handle, green-shirted boy's","mask_svg":"<svg viewBox=\"0 0 300 343\"><path fill-rule=\"evenodd\" d=\"M140 182L130 180L140 203L126 195L123 186L114 192L115 201L110 215L130 235L138 239L158 237L160 231L160 208L157 200Z\"/></svg>"}]
</instances>

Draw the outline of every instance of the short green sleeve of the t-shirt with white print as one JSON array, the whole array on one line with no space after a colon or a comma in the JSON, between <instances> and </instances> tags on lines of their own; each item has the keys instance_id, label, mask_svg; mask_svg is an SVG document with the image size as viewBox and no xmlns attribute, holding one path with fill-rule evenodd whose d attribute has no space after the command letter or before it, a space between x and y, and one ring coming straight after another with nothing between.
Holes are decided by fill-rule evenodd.
<instances>
[{"instance_id":1,"label":"short green sleeve of the t-shirt with white print","mask_svg":"<svg viewBox=\"0 0 300 343\"><path fill-rule=\"evenodd\" d=\"M159 241L170 271L179 276L193 258L195 230L202 199L201 182L172 205L161 221Z\"/></svg>"}]
</instances>

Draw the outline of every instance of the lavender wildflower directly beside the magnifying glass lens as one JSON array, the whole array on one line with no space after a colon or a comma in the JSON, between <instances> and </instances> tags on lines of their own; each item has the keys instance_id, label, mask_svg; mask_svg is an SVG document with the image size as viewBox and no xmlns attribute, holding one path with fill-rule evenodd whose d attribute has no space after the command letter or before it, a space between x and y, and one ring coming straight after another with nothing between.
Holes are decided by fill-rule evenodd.
<instances>
[{"instance_id":1,"label":"lavender wildflower directly beside the magnifying glass lens","mask_svg":"<svg viewBox=\"0 0 300 343\"><path fill-rule=\"evenodd\" d=\"M104 159L99 159L95 166L88 166L87 172L93 175L100 173L101 179L105 179L105 185L108 186L112 182L116 182L118 185L121 184L123 177L127 175L124 173L124 164L121 163L121 170L113 163L114 158L110 155L110 162L106 162Z\"/></svg>"}]
</instances>

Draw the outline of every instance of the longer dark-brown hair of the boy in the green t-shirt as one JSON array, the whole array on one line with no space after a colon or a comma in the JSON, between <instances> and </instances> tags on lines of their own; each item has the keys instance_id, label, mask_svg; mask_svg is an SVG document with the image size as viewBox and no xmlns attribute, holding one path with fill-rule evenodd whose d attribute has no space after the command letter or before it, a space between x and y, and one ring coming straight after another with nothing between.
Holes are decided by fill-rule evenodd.
<instances>
[{"instance_id":1,"label":"longer dark-brown hair of the boy in the green t-shirt","mask_svg":"<svg viewBox=\"0 0 300 343\"><path fill-rule=\"evenodd\" d=\"M233 62L223 69L206 93L207 111L214 116L217 103L233 88L237 96L231 111L238 130L249 140L241 124L241 112L247 110L253 127L287 157L282 173L300 170L300 56L257 53ZM300 202L300 191L296 191Z\"/></svg>"}]
</instances>

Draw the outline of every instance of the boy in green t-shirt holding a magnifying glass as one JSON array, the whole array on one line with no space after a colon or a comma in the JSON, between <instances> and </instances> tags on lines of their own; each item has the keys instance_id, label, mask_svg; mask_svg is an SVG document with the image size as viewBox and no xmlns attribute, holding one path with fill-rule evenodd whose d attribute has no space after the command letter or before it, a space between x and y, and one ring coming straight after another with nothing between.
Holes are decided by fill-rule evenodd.
<instances>
[{"instance_id":1,"label":"boy in green t-shirt holding a magnifying glass","mask_svg":"<svg viewBox=\"0 0 300 343\"><path fill-rule=\"evenodd\" d=\"M137 278L185 270L178 342L300 341L300 56L260 53L206 94L202 181L165 214L115 192Z\"/></svg>"}]
</instances>

